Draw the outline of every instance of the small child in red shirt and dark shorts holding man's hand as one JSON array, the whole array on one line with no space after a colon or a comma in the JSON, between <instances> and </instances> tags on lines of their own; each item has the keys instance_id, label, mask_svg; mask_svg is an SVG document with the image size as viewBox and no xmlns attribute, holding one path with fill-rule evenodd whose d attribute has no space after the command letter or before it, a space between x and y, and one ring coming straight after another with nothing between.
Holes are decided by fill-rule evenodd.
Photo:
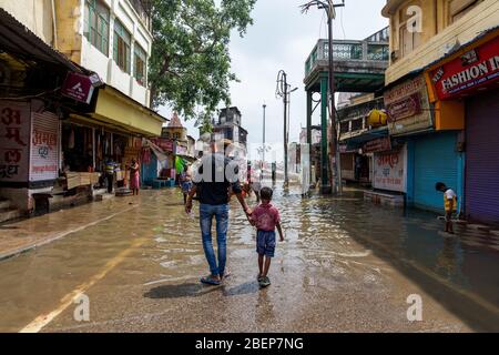
<instances>
[{"instance_id":1,"label":"small child in red shirt and dark shorts holding man's hand","mask_svg":"<svg viewBox=\"0 0 499 355\"><path fill-rule=\"evenodd\" d=\"M284 242L283 229L281 227L279 211L271 203L273 191L269 187L261 190L262 203L253 211L251 221L257 229L256 252L258 253L258 283L261 287L271 285L268 270L275 254L275 229L279 232L281 242Z\"/></svg>"}]
</instances>

